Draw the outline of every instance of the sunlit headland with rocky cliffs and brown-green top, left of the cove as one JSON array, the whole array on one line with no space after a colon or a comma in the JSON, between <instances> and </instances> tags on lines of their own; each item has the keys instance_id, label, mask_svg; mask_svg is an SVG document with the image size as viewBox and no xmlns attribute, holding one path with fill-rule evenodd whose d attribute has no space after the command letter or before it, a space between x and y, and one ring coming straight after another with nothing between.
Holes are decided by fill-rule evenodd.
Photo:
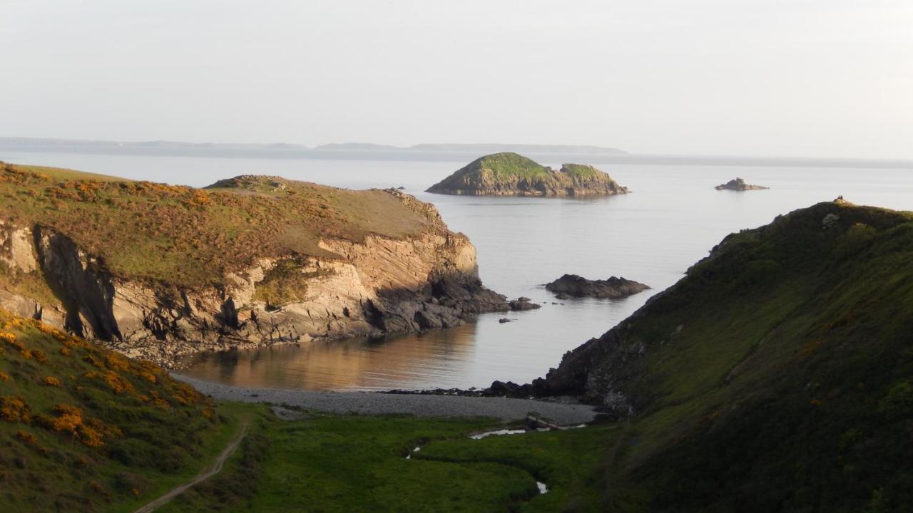
<instances>
[{"instance_id":1,"label":"sunlit headland with rocky cliffs and brown-green top, left of the cove","mask_svg":"<svg viewBox=\"0 0 913 513\"><path fill-rule=\"evenodd\" d=\"M241 176L205 189L3 164L0 306L171 364L506 310L434 206Z\"/></svg>"}]
</instances>

